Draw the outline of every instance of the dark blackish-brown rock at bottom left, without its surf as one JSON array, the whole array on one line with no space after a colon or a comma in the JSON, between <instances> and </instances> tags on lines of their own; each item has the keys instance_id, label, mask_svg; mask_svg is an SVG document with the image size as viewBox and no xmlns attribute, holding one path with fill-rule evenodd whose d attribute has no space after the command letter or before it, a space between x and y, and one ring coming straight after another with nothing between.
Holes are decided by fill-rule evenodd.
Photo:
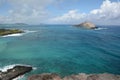
<instances>
[{"instance_id":1,"label":"dark blackish-brown rock at bottom left, without its surf","mask_svg":"<svg viewBox=\"0 0 120 80\"><path fill-rule=\"evenodd\" d=\"M12 69L8 69L7 72L0 71L0 80L12 80L20 75L30 72L32 67L28 66L15 66Z\"/></svg>"}]
</instances>

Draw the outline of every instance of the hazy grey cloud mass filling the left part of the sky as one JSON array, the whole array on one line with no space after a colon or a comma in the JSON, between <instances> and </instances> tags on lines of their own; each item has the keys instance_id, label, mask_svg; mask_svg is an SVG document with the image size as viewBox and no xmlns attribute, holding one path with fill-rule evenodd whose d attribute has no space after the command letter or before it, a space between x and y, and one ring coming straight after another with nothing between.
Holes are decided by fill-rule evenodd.
<instances>
[{"instance_id":1,"label":"hazy grey cloud mass filling the left part of the sky","mask_svg":"<svg viewBox=\"0 0 120 80\"><path fill-rule=\"evenodd\" d=\"M0 17L0 23L40 23L49 16L46 7L54 0L6 0L10 10L7 16ZM3 3L3 0L0 0ZM7 12L7 11L6 11Z\"/></svg>"}]
</instances>

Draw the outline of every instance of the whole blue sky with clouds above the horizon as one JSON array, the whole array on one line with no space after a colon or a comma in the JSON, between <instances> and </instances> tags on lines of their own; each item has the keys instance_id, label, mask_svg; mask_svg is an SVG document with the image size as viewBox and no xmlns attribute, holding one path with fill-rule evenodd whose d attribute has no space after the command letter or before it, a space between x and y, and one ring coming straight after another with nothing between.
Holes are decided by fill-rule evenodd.
<instances>
[{"instance_id":1,"label":"whole blue sky with clouds above the horizon","mask_svg":"<svg viewBox=\"0 0 120 80\"><path fill-rule=\"evenodd\" d=\"M0 24L120 25L119 0L0 0Z\"/></svg>"}]
</instances>

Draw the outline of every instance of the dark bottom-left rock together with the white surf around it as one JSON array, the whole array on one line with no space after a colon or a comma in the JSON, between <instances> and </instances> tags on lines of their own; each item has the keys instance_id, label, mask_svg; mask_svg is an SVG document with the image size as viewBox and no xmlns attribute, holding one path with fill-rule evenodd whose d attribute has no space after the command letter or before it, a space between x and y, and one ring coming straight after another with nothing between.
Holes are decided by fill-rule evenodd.
<instances>
[{"instance_id":1,"label":"dark bottom-left rock together with the white surf around it","mask_svg":"<svg viewBox=\"0 0 120 80\"><path fill-rule=\"evenodd\" d=\"M33 70L30 65L13 64L0 68L0 80L18 80Z\"/></svg>"}]
</instances>

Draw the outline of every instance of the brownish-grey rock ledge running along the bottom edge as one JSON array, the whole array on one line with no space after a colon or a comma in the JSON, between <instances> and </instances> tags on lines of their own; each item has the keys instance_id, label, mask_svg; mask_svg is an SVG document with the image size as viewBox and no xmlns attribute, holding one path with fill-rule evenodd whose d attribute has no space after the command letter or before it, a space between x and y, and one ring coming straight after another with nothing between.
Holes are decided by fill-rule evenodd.
<instances>
[{"instance_id":1,"label":"brownish-grey rock ledge running along the bottom edge","mask_svg":"<svg viewBox=\"0 0 120 80\"><path fill-rule=\"evenodd\" d=\"M120 80L120 75L114 74L83 74L80 73L78 75L71 75L61 78L57 74L39 74L39 75L32 75L28 78L28 80Z\"/></svg>"}]
</instances>

